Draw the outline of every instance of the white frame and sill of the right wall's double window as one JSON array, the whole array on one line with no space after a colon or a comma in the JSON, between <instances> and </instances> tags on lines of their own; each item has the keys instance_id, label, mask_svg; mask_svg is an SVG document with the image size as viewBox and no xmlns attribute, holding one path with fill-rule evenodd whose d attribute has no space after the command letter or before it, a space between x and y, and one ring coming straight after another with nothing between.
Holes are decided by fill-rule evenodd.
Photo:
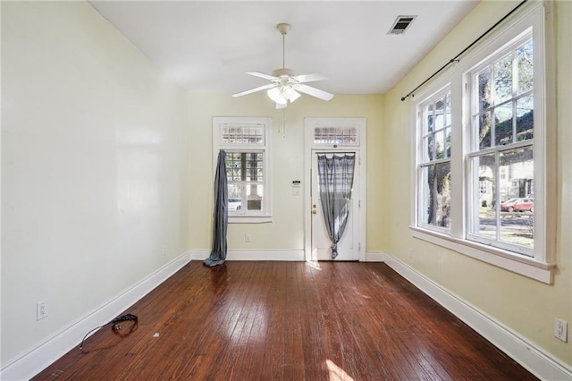
<instances>
[{"instance_id":1,"label":"white frame and sill of the right wall's double window","mask_svg":"<svg viewBox=\"0 0 572 381\"><path fill-rule=\"evenodd\" d=\"M545 11L542 2L525 4L490 37L484 38L481 43L462 56L459 63L452 65L449 70L439 75L424 90L416 93L416 97L413 98L411 118L416 124L413 131L417 131L417 110L421 103L436 91L450 84L451 123L453 126L451 131L451 222L450 234L427 229L418 224L418 177L416 170L419 138L417 133L414 133L412 134L412 147L415 148L412 150L412 163L414 165L412 165L411 178L415 186L412 187L411 192L411 202L414 207L411 211L410 231L412 236L417 239L432 242L494 266L551 284L553 282L554 258L551 254L553 250L549 248L553 247L555 236L554 232L551 231L554 229L547 229L547 226L552 224L546 213L549 208L546 198L546 192L549 188L546 179L547 169L553 165L553 157L547 155L546 135L547 131L554 127L547 124L546 121L545 78L547 73L545 70L545 50L548 43L544 38L544 17ZM533 28L534 43L534 252L532 257L527 257L515 251L467 239L467 153L470 148L467 135L467 123L470 122L467 74L531 27Z\"/></svg>"}]
</instances>

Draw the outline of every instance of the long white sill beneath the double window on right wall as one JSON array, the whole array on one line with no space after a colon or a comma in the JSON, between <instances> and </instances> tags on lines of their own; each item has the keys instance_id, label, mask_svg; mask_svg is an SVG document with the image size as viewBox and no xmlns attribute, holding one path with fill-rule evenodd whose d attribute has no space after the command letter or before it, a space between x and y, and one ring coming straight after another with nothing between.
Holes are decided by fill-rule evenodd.
<instances>
[{"instance_id":1,"label":"long white sill beneath the double window on right wall","mask_svg":"<svg viewBox=\"0 0 572 381\"><path fill-rule=\"evenodd\" d=\"M409 229L411 230L411 235L419 240L428 241L443 248L457 251L460 254L504 268L513 273L525 275L544 284L552 284L555 267L553 264L539 262L533 258L522 257L510 251L493 248L481 243L420 229L416 226L409 226Z\"/></svg>"}]
</instances>

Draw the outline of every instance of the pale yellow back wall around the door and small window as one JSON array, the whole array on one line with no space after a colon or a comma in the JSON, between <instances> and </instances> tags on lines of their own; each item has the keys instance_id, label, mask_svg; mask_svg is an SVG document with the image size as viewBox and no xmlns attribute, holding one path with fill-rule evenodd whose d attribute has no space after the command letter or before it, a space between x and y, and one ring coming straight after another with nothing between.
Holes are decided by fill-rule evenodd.
<instances>
[{"instance_id":1,"label":"pale yellow back wall around the door and small window","mask_svg":"<svg viewBox=\"0 0 572 381\"><path fill-rule=\"evenodd\" d=\"M324 102L312 97L300 97L295 104L275 110L264 93L233 98L227 95L197 95L189 97L190 126L193 152L190 241L193 249L207 250L211 245L213 213L213 116L268 116L273 119L273 223L229 224L229 250L303 250L304 197L293 196L291 182L305 184L304 118L364 117L367 120L367 202L377 210L382 201L379 163L381 152L376 142L382 140L382 96L335 96ZM372 142L371 144L369 142ZM302 191L303 193L303 191ZM368 231L379 224L380 216L367 214ZM208 223L206 223L208 221ZM372 230L373 232L373 230ZM244 241L250 233L251 241ZM371 234L373 237L374 234ZM371 241L367 248L373 248ZM377 247L379 249L379 246Z\"/></svg>"}]
</instances>

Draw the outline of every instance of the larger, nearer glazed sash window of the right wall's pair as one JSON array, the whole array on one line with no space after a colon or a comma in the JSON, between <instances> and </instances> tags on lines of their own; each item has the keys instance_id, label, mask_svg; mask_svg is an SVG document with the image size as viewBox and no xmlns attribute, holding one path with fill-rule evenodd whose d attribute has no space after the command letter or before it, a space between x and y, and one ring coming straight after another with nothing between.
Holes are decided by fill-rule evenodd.
<instances>
[{"instance_id":1,"label":"larger, nearer glazed sash window of the right wall's pair","mask_svg":"<svg viewBox=\"0 0 572 381\"><path fill-rule=\"evenodd\" d=\"M534 206L528 199L525 208L509 206L534 198L532 30L467 72L467 80L467 238L533 257Z\"/></svg>"}]
</instances>

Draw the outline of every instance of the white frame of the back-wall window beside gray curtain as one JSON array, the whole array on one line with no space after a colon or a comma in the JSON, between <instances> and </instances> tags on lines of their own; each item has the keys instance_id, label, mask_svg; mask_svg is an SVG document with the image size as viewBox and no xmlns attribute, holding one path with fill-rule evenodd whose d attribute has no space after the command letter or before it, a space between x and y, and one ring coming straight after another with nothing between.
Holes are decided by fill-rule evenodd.
<instances>
[{"instance_id":1,"label":"white frame of the back-wall window beside gray curtain","mask_svg":"<svg viewBox=\"0 0 572 381\"><path fill-rule=\"evenodd\" d=\"M225 143L222 139L222 129L224 126L252 126L257 125L263 128L264 138L261 143ZM230 224L253 224L270 223L272 214L272 118L269 117L213 117L213 171L216 171L216 161L219 150L223 149L227 153L261 153L264 162L264 181L262 199L262 211L247 211L241 208L240 211L229 211ZM214 173L213 172L213 173Z\"/></svg>"}]
</instances>

